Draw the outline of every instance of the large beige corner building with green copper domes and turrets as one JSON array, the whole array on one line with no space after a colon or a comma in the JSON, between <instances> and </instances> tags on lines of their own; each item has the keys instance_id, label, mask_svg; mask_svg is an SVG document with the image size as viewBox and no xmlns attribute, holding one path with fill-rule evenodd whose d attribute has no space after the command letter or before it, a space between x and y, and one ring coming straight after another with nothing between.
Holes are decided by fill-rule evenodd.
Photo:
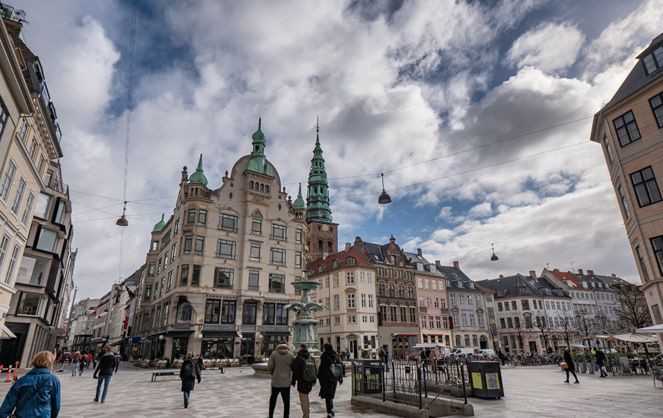
<instances>
[{"instance_id":1,"label":"large beige corner building with green copper domes and turrets","mask_svg":"<svg viewBox=\"0 0 663 418\"><path fill-rule=\"evenodd\" d=\"M202 155L182 170L172 215L152 231L140 291L137 354L174 359L269 355L291 335L292 283L305 273L303 200L293 203L252 135L251 153L208 187Z\"/></svg>"}]
</instances>

